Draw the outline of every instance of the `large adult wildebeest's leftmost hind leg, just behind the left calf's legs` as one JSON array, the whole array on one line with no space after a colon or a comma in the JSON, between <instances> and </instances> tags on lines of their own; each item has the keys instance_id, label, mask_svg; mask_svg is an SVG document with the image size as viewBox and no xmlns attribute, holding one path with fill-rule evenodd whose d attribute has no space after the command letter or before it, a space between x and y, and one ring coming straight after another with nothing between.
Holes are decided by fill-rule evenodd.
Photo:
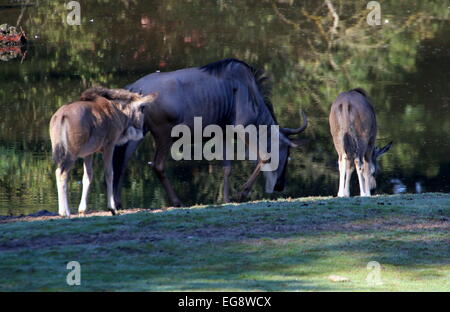
<instances>
[{"instance_id":1,"label":"large adult wildebeest's leftmost hind leg, just behind the left calf's legs","mask_svg":"<svg viewBox=\"0 0 450 312\"><path fill-rule=\"evenodd\" d=\"M145 135L145 134L144 134ZM131 159L136 148L139 146L140 141L129 141L128 143L116 146L114 148L113 156L113 188L114 188L114 202L116 208L120 209L122 207L122 183L125 176L125 170L128 165L128 161Z\"/></svg>"}]
</instances>

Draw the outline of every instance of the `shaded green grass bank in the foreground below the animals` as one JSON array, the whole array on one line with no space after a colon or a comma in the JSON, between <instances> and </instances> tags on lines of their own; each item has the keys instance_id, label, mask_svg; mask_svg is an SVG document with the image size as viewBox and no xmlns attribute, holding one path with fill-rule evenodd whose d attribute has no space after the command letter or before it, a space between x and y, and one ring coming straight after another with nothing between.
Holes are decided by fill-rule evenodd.
<instances>
[{"instance_id":1,"label":"shaded green grass bank in the foreground below the animals","mask_svg":"<svg viewBox=\"0 0 450 312\"><path fill-rule=\"evenodd\" d=\"M449 230L448 194L7 223L0 291L449 291ZM66 284L73 260L80 286ZM382 285L366 282L369 261Z\"/></svg>"}]
</instances>

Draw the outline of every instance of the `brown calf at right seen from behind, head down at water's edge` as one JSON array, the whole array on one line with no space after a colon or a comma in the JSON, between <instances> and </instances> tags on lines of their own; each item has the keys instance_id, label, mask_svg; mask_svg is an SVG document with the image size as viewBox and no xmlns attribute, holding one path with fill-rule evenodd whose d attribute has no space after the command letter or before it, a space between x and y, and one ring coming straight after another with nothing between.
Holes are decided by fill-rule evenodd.
<instances>
[{"instance_id":1,"label":"brown calf at right seen from behind, head down at water's edge","mask_svg":"<svg viewBox=\"0 0 450 312\"><path fill-rule=\"evenodd\" d=\"M375 189L377 159L386 153L392 142L375 147L377 120L375 111L360 88L339 94L331 106L330 130L339 155L339 197L350 196L350 178L356 167L361 196L370 196Z\"/></svg>"}]
</instances>

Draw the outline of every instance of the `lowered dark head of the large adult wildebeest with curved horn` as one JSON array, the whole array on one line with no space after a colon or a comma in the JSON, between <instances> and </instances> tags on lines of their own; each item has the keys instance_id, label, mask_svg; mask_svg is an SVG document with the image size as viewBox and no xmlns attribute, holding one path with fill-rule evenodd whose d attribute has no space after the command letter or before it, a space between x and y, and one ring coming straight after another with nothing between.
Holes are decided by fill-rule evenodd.
<instances>
[{"instance_id":1,"label":"lowered dark head of the large adult wildebeest with curved horn","mask_svg":"<svg viewBox=\"0 0 450 312\"><path fill-rule=\"evenodd\" d=\"M280 128L279 129L279 147L278 147L278 167L274 171L264 171L266 178L266 193L273 191L281 192L286 185L286 167L289 160L290 149L298 147L299 139L290 138L291 135L297 135L306 130L308 126L308 117L302 111L303 125L300 128Z\"/></svg>"}]
</instances>

